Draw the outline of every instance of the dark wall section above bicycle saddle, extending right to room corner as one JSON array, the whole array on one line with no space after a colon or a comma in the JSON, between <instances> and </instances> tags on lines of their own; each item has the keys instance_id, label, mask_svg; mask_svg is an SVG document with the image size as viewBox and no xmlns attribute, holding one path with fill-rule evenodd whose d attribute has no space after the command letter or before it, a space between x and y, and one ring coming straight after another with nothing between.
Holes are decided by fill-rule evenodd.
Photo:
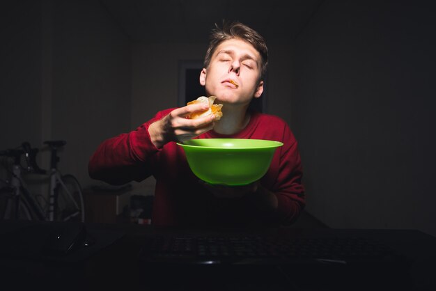
<instances>
[{"instance_id":1,"label":"dark wall section above bicycle saddle, extending right to room corner","mask_svg":"<svg viewBox=\"0 0 436 291\"><path fill-rule=\"evenodd\" d=\"M130 125L130 40L98 1L54 3L52 139L86 187L93 151Z\"/></svg>"}]
</instances>

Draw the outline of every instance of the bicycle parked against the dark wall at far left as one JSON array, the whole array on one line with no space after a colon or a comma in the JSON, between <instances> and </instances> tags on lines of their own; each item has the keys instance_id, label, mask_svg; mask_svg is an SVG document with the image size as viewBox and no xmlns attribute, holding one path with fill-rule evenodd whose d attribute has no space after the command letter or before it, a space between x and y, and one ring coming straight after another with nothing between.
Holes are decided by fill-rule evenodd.
<instances>
[{"instance_id":1,"label":"bicycle parked against the dark wall at far left","mask_svg":"<svg viewBox=\"0 0 436 291\"><path fill-rule=\"evenodd\" d=\"M40 220L40 221L80 221L84 222L84 198L81 186L74 175L62 175L58 169L60 158L58 149L65 146L65 141L45 141L50 149L49 173L36 163L38 148L31 148L29 142L15 149L0 151L0 156L13 159L13 164L6 166L9 180L0 179L1 194L6 194L3 219ZM26 167L22 166L22 157ZM10 170L9 168L12 168ZM23 178L24 173L48 175L48 201L38 200L30 191Z\"/></svg>"}]
</instances>

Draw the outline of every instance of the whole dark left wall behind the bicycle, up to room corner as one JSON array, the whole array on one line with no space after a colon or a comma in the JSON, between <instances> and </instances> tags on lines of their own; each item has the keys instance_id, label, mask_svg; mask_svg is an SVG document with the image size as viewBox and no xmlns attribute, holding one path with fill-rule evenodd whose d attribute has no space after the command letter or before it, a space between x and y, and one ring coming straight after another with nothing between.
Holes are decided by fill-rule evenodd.
<instances>
[{"instance_id":1,"label":"whole dark left wall behind the bicycle, up to room corner","mask_svg":"<svg viewBox=\"0 0 436 291\"><path fill-rule=\"evenodd\" d=\"M0 148L65 139L61 171L88 187L93 150L130 125L130 40L98 1L3 8Z\"/></svg>"}]
</instances>

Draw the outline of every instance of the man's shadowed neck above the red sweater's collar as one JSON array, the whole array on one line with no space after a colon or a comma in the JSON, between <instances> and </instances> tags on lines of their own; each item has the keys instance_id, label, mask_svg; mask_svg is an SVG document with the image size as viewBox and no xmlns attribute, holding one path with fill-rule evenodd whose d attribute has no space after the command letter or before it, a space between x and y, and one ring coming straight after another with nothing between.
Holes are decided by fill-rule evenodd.
<instances>
[{"instance_id":1,"label":"man's shadowed neck above the red sweater's collar","mask_svg":"<svg viewBox=\"0 0 436 291\"><path fill-rule=\"evenodd\" d=\"M223 110L223 116L215 123L214 130L219 134L235 134L244 129L249 121L247 108Z\"/></svg>"}]
</instances>

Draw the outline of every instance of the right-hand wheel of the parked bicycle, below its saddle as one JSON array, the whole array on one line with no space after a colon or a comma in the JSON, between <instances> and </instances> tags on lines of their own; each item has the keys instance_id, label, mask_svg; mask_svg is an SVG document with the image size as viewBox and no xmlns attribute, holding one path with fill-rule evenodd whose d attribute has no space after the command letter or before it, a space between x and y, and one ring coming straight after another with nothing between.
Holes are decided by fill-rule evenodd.
<instances>
[{"instance_id":1,"label":"right-hand wheel of the parked bicycle, below its saddle","mask_svg":"<svg viewBox=\"0 0 436 291\"><path fill-rule=\"evenodd\" d=\"M55 221L85 221L84 197L73 175L63 175L55 198Z\"/></svg>"}]
</instances>

